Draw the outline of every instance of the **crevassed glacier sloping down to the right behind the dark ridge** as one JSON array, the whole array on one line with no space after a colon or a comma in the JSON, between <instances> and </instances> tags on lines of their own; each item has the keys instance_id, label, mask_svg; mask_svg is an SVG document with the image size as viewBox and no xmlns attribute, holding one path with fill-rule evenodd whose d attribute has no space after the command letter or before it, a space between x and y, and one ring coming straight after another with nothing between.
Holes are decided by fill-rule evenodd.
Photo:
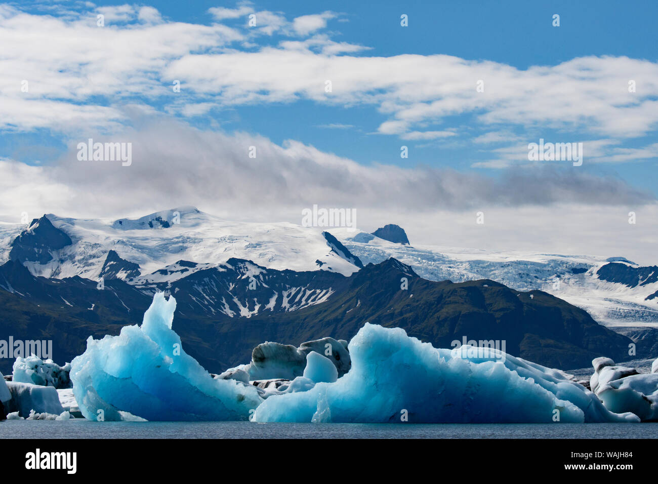
<instances>
[{"instance_id":1,"label":"crevassed glacier sloping down to the right behind the dark ridge","mask_svg":"<svg viewBox=\"0 0 658 484\"><path fill-rule=\"evenodd\" d=\"M492 279L517 290L544 290L609 326L658 327L658 267L624 257L407 246L365 232L332 233L364 263L390 257L431 281Z\"/></svg>"}]
</instances>

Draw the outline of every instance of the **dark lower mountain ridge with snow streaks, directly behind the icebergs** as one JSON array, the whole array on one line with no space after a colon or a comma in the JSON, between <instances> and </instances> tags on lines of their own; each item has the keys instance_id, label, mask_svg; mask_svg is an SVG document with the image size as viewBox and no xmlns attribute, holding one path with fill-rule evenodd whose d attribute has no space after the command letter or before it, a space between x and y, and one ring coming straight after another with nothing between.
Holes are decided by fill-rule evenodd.
<instances>
[{"instance_id":1,"label":"dark lower mountain ridge with snow streaks, directly behind the icebergs","mask_svg":"<svg viewBox=\"0 0 658 484\"><path fill-rule=\"evenodd\" d=\"M182 275L186 268L190 274ZM10 260L0 265L0 330L26 339L39 331L53 340L57 360L70 361L89 335L114 335L139 323L162 288L176 298L174 325L186 351L213 371L248 361L263 340L349 339L367 321L401 327L440 348L465 336L504 341L509 354L563 368L583 367L600 354L625 357L632 342L545 292L520 292L487 279L428 281L395 259L349 277L320 269L277 271L243 259L194 269L182 261L165 271L175 274L173 282L108 279L99 287L77 276L35 277ZM638 352L650 344L638 342Z\"/></svg>"}]
</instances>

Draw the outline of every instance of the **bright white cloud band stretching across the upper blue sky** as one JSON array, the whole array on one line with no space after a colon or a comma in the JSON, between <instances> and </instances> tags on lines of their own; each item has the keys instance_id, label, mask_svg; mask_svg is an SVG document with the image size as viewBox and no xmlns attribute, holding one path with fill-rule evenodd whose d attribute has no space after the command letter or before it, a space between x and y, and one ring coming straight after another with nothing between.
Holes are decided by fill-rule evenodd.
<instances>
[{"instance_id":1,"label":"bright white cloud band stretching across the upper blue sky","mask_svg":"<svg viewBox=\"0 0 658 484\"><path fill-rule=\"evenodd\" d=\"M480 132L577 129L590 138L615 140L653 134L658 126L658 63L651 61L581 57L522 70L450 55L369 57L363 54L367 47L326 34L254 47L255 38L263 36L317 32L335 14L297 17L295 28L295 20L288 22L284 14L255 11L247 3L211 9L217 19L251 11L257 16L255 28L230 28L163 21L152 7L99 8L105 9L106 20L141 18L141 23L110 21L99 28L94 11L58 18L0 9L5 52L0 95L13 103L3 111L5 127L57 127L47 110L30 108L35 101L60 103L64 118L72 122L89 122L89 111L99 115L95 124L117 121L114 105L127 97L170 103L176 79L183 82L188 104L311 99L372 105L382 117L378 132L406 139L427 139L423 136L432 135L419 133L435 132L427 126L455 115L470 116L468 124ZM237 49L238 44L248 50ZM628 92L630 78L636 81L635 93ZM27 93L20 92L22 80L30 82ZM326 80L332 81L331 93L324 90ZM484 92L476 91L478 80L484 81ZM474 133L476 142L495 142L493 135L480 132ZM618 159L625 154L617 153Z\"/></svg>"}]
</instances>

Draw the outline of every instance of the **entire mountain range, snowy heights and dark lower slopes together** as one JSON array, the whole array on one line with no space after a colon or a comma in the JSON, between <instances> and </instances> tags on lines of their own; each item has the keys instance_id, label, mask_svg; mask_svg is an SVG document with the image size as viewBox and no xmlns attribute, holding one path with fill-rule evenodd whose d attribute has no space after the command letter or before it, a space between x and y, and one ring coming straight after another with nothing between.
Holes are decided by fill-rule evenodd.
<instances>
[{"instance_id":1,"label":"entire mountain range, snowy heights and dark lower slopes together","mask_svg":"<svg viewBox=\"0 0 658 484\"><path fill-rule=\"evenodd\" d=\"M599 322L632 326L630 304L639 308L630 309L636 326L653 323L651 267L621 257L456 254L366 232L228 222L193 207L116 221L44 215L28 227L0 226L0 329L52 339L63 363L88 336L141 322L153 294L165 291L178 304L174 329L209 371L249 362L265 340L349 340L366 321L446 348L463 337L505 340L510 354L569 369L597 356L629 359L633 341ZM570 304L588 286L590 306L615 294L622 317L608 311L597 321L587 305ZM655 348L646 335L638 356ZM11 362L0 365L8 371Z\"/></svg>"}]
</instances>

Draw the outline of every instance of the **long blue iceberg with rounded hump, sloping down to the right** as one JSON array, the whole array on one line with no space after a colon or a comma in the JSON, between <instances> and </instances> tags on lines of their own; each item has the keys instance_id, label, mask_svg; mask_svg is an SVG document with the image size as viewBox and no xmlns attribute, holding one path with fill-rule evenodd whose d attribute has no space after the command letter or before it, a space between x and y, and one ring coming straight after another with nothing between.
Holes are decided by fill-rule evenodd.
<instances>
[{"instance_id":1,"label":"long blue iceberg with rounded hump, sloping down to the right","mask_svg":"<svg viewBox=\"0 0 658 484\"><path fill-rule=\"evenodd\" d=\"M255 421L639 421L613 414L560 371L484 348L462 358L401 328L366 324L349 343L351 369L334 383L272 395ZM477 352L475 352L477 354ZM479 356L479 355L478 355Z\"/></svg>"}]
</instances>

